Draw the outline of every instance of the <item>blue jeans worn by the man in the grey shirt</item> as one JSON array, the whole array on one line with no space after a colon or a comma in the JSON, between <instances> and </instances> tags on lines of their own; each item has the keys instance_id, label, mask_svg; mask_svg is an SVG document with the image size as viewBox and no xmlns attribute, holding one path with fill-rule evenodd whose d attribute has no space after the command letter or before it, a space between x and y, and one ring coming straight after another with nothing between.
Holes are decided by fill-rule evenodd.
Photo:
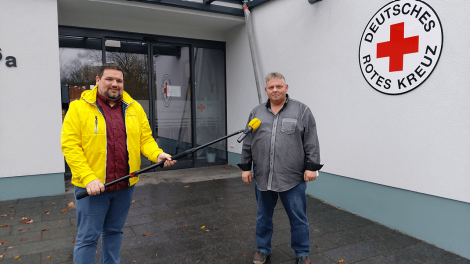
<instances>
[{"instance_id":1,"label":"blue jeans worn by the man in the grey shirt","mask_svg":"<svg viewBox=\"0 0 470 264\"><path fill-rule=\"evenodd\" d=\"M273 213L278 196L290 222L291 247L297 257L308 256L310 251L310 235L307 219L307 183L302 182L285 192L260 191L255 186L258 201L258 217L256 220L256 242L258 250L270 254L271 237L273 236Z\"/></svg>"}]
</instances>

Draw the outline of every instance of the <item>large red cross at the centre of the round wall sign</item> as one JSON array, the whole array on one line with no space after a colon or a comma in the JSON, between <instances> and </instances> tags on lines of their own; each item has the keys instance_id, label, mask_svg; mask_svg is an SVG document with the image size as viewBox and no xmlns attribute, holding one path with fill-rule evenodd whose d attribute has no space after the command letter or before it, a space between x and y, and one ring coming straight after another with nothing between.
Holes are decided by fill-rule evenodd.
<instances>
[{"instance_id":1,"label":"large red cross at the centre of the round wall sign","mask_svg":"<svg viewBox=\"0 0 470 264\"><path fill-rule=\"evenodd\" d=\"M405 22L390 25L390 41L377 43L377 58L389 57L389 72L403 71L405 54L419 51L419 36L405 38Z\"/></svg>"}]
</instances>

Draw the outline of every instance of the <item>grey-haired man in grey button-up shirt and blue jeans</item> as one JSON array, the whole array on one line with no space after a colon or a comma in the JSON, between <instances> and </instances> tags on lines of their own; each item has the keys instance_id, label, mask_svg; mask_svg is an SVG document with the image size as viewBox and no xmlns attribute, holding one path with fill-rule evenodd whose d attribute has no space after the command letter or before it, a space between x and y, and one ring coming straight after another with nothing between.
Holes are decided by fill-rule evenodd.
<instances>
[{"instance_id":1,"label":"grey-haired man in grey button-up shirt and blue jeans","mask_svg":"<svg viewBox=\"0 0 470 264\"><path fill-rule=\"evenodd\" d=\"M238 164L243 170L242 180L249 184L253 163L258 202L255 264L265 263L271 253L273 212L278 197L289 217L291 246L297 263L310 263L305 189L307 182L317 178L323 165L312 112L305 104L289 98L288 89L282 74L272 72L266 76L269 99L255 107L248 119L260 119L261 126L243 141Z\"/></svg>"}]
</instances>

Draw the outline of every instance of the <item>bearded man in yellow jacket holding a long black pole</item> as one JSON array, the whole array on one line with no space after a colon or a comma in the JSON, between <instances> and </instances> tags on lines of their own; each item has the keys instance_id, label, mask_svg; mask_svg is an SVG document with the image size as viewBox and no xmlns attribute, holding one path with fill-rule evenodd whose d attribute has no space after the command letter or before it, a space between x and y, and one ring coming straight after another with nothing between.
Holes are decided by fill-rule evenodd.
<instances>
[{"instance_id":1,"label":"bearded man in yellow jacket holding a long black pole","mask_svg":"<svg viewBox=\"0 0 470 264\"><path fill-rule=\"evenodd\" d=\"M165 167L176 161L158 147L142 106L124 91L122 69L112 63L100 67L93 90L70 104L61 141L75 195L90 195L76 201L74 263L94 263L100 235L101 263L119 263L121 230L139 177L106 190L104 183L139 170L140 153L153 162L166 160Z\"/></svg>"}]
</instances>

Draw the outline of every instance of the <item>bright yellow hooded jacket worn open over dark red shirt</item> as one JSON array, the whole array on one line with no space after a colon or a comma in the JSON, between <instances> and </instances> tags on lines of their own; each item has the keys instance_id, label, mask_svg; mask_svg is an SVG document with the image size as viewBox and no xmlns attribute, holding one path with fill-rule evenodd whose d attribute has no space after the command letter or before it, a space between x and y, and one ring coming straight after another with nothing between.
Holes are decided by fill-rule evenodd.
<instances>
[{"instance_id":1,"label":"bright yellow hooded jacket worn open over dark red shirt","mask_svg":"<svg viewBox=\"0 0 470 264\"><path fill-rule=\"evenodd\" d=\"M70 104L62 125L62 153L72 170L72 184L85 188L99 179L106 183L106 122L96 102L97 86ZM163 152L155 142L142 106L124 91L122 96L131 172L140 170L140 153L157 162ZM130 185L139 177L129 179Z\"/></svg>"}]
</instances>

